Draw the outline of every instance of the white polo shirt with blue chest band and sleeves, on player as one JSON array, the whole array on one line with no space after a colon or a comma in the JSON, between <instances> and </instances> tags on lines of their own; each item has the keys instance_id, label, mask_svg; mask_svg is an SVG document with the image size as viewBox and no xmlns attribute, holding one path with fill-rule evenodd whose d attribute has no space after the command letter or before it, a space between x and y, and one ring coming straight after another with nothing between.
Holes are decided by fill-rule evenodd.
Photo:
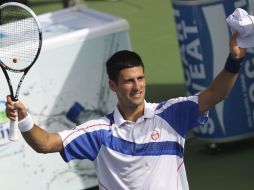
<instances>
[{"instance_id":1,"label":"white polo shirt with blue chest band and sleeves, on player","mask_svg":"<svg viewBox=\"0 0 254 190\"><path fill-rule=\"evenodd\" d=\"M60 132L61 156L66 162L91 160L101 190L187 190L185 136L204 121L197 96L145 102L136 122L124 120L116 107L112 114Z\"/></svg>"}]
</instances>

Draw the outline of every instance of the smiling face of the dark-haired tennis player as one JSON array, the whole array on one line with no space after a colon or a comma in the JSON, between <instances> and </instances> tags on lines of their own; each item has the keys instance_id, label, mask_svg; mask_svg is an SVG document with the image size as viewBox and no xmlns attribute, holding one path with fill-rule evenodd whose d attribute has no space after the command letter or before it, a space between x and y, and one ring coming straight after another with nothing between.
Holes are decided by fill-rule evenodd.
<instances>
[{"instance_id":1,"label":"smiling face of the dark-haired tennis player","mask_svg":"<svg viewBox=\"0 0 254 190\"><path fill-rule=\"evenodd\" d=\"M121 70L117 83L110 80L109 84L118 97L122 111L143 107L146 81L142 66Z\"/></svg>"}]
</instances>

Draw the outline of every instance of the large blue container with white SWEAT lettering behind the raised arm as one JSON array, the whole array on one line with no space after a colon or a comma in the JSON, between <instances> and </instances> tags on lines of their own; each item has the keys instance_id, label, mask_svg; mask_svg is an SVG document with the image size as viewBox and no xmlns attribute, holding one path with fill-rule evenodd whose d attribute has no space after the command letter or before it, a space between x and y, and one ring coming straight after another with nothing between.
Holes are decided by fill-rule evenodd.
<instances>
[{"instance_id":1,"label":"large blue container with white SWEAT lettering behind the raised arm","mask_svg":"<svg viewBox=\"0 0 254 190\"><path fill-rule=\"evenodd\" d=\"M223 69L229 54L230 29L225 21L248 2L173 1L180 56L188 95L206 88ZM248 50L230 95L209 112L209 123L194 129L196 137L213 142L254 135L254 52Z\"/></svg>"}]
</instances>

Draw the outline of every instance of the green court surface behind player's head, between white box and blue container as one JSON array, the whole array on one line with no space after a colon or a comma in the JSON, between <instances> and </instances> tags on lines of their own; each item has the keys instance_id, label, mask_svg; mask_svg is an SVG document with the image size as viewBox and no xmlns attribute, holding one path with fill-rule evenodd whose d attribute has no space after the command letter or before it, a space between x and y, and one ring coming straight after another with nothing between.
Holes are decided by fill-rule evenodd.
<instances>
[{"instance_id":1,"label":"green court surface behind player's head, between white box and blue container","mask_svg":"<svg viewBox=\"0 0 254 190\"><path fill-rule=\"evenodd\" d=\"M23 2L37 14L63 9L68 4L68 1L61 0ZM185 94L171 1L69 1L70 6L75 3L128 20L132 49L142 56L146 64L148 97L151 101ZM157 93L158 90L160 93Z\"/></svg>"}]
</instances>

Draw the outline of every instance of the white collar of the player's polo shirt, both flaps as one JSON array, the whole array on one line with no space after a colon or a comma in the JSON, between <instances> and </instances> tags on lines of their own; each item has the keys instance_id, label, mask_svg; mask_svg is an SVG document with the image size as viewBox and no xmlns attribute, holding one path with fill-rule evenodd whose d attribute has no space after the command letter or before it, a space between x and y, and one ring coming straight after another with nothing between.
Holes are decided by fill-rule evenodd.
<instances>
[{"instance_id":1,"label":"white collar of the player's polo shirt, both flaps","mask_svg":"<svg viewBox=\"0 0 254 190\"><path fill-rule=\"evenodd\" d=\"M145 100L144 100L144 103L145 103L144 115L142 115L137 120L137 122L142 119L145 119L145 118L153 118L154 117L155 111L154 111L152 105L150 103L147 103ZM114 121L117 126L121 126L122 124L129 122L123 118L122 114L120 113L120 111L118 109L118 106L116 106L115 110L114 110Z\"/></svg>"}]
</instances>

